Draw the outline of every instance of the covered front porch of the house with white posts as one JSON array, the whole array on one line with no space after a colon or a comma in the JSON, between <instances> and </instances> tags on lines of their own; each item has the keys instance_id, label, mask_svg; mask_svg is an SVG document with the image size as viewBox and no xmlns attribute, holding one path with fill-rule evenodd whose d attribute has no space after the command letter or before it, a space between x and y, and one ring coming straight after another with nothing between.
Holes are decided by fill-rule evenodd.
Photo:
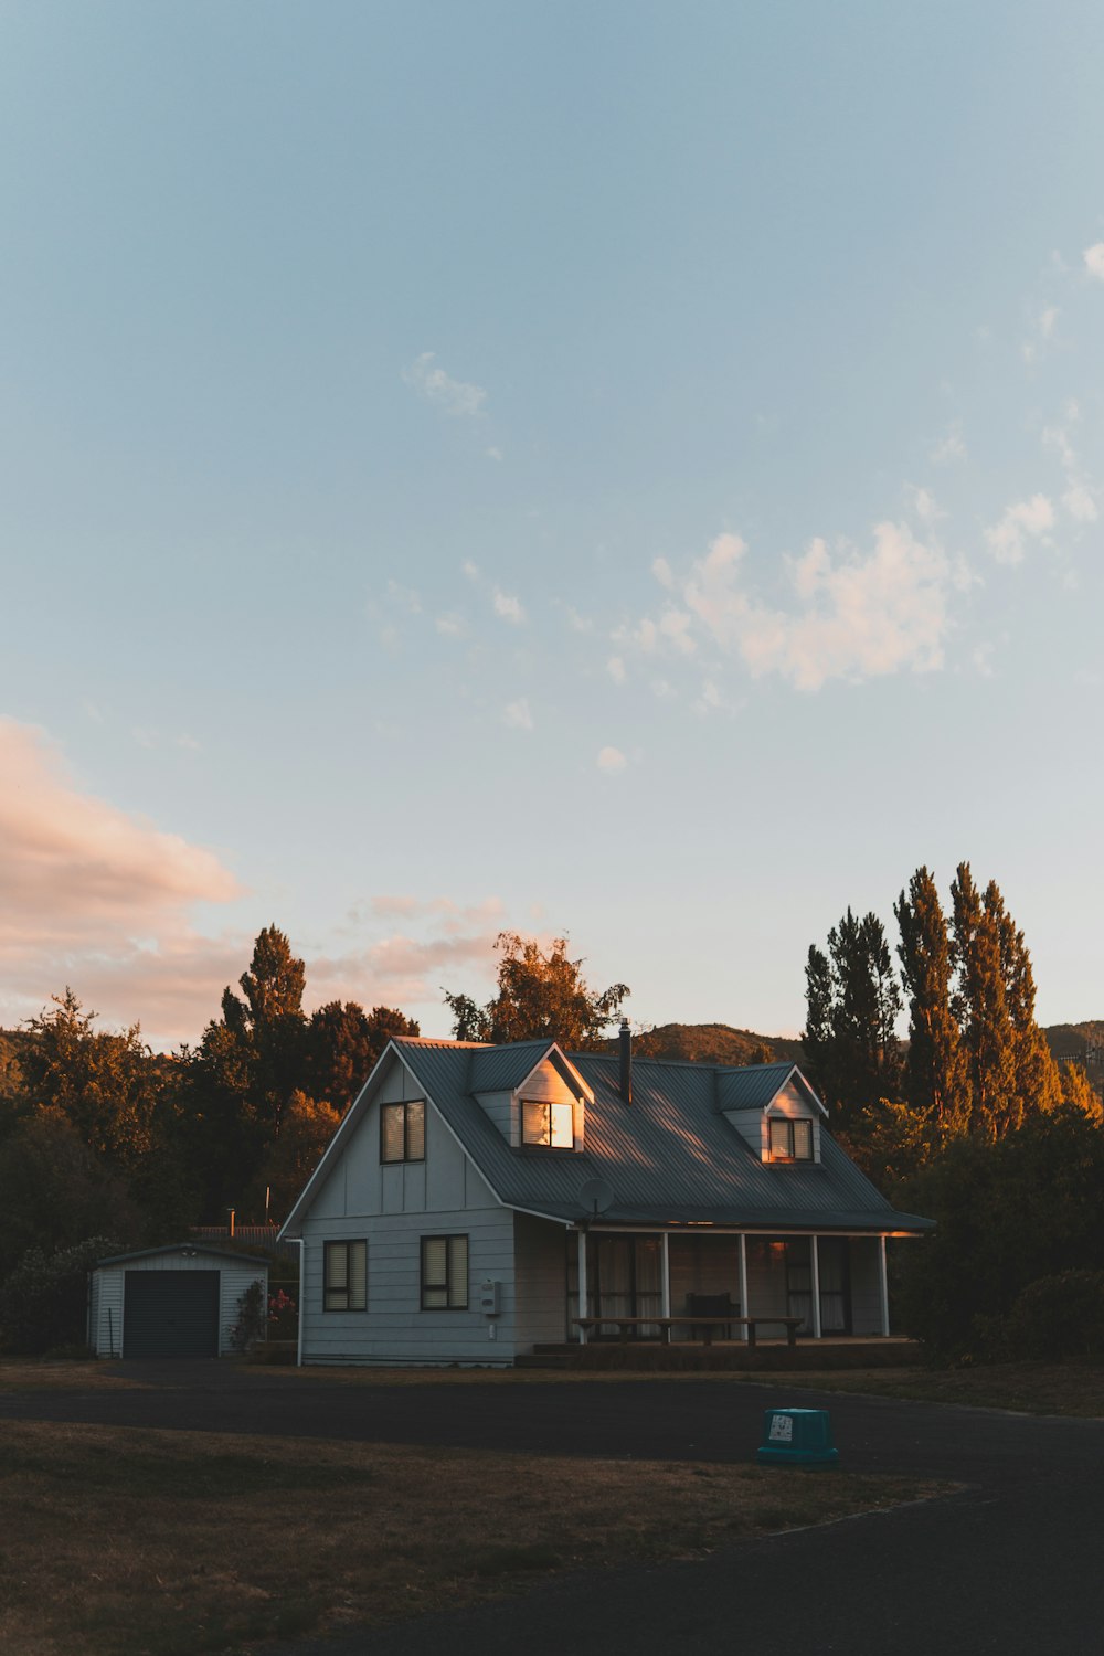
<instances>
[{"instance_id":1,"label":"covered front porch of the house with white posts","mask_svg":"<svg viewBox=\"0 0 1104 1656\"><path fill-rule=\"evenodd\" d=\"M579 1225L568 1232L564 1338L753 1345L796 1326L803 1341L887 1340L887 1235Z\"/></svg>"}]
</instances>

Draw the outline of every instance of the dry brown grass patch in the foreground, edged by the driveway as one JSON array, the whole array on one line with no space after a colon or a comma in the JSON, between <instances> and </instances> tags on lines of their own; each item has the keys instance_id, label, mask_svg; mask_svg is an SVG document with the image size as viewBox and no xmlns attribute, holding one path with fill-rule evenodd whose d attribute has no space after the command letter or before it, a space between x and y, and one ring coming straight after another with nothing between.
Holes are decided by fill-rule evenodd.
<instances>
[{"instance_id":1,"label":"dry brown grass patch in the foreground, edged by the driveway","mask_svg":"<svg viewBox=\"0 0 1104 1656\"><path fill-rule=\"evenodd\" d=\"M5 1423L0 1649L197 1656L516 1591L952 1485Z\"/></svg>"}]
</instances>

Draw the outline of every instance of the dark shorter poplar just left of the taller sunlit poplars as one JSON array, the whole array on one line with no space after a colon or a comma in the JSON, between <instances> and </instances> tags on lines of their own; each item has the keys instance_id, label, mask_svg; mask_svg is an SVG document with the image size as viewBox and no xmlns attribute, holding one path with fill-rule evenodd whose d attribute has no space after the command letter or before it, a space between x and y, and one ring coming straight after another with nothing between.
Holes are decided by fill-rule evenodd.
<instances>
[{"instance_id":1,"label":"dark shorter poplar just left of the taller sunlit poplars","mask_svg":"<svg viewBox=\"0 0 1104 1656\"><path fill-rule=\"evenodd\" d=\"M846 1126L900 1085L895 1020L900 989L877 914L847 909L828 934L828 956L809 949L803 1042L824 1095Z\"/></svg>"}]
</instances>

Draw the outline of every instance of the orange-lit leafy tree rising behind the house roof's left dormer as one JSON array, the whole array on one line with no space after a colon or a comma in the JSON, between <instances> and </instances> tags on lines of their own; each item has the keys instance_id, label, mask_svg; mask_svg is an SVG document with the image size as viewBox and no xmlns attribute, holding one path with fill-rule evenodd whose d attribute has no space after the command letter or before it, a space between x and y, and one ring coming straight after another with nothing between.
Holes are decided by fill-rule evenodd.
<instances>
[{"instance_id":1,"label":"orange-lit leafy tree rising behind the house roof's left dormer","mask_svg":"<svg viewBox=\"0 0 1104 1656\"><path fill-rule=\"evenodd\" d=\"M470 995L445 992L457 1040L495 1045L516 1040L556 1040L569 1052L601 1047L606 1028L629 994L626 984L594 992L583 979L583 960L568 959L568 939L553 937L543 951L535 937L498 932L498 994L485 1007Z\"/></svg>"}]
</instances>

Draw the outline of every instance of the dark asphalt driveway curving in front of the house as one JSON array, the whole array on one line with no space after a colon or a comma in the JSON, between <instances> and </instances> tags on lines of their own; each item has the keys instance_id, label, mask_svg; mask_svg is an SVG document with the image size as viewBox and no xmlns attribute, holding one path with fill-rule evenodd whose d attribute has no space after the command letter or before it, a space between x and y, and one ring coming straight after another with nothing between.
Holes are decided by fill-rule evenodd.
<instances>
[{"instance_id":1,"label":"dark asphalt driveway curving in front of the house","mask_svg":"<svg viewBox=\"0 0 1104 1656\"><path fill-rule=\"evenodd\" d=\"M952 1499L735 1545L695 1563L586 1572L473 1611L281 1646L295 1656L1104 1651L1099 1421L708 1379L343 1386L218 1363L122 1371L141 1378L142 1389L7 1393L0 1419L746 1461L763 1409L799 1403L831 1409L847 1469L967 1485Z\"/></svg>"}]
</instances>

